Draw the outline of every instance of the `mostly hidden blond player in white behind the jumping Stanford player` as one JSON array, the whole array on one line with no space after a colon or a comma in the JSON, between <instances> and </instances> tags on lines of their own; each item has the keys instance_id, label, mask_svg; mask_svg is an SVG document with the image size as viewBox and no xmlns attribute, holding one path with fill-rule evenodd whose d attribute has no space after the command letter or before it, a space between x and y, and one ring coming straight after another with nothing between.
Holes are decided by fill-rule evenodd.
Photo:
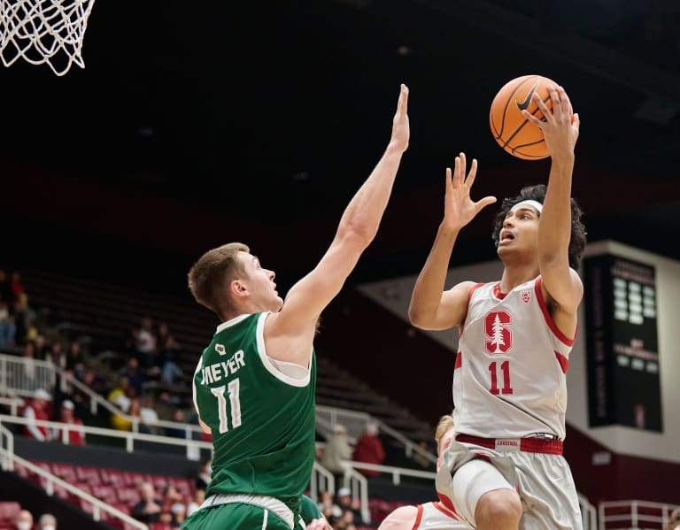
<instances>
[{"instance_id":1,"label":"mostly hidden blond player in white behind the jumping Stanford player","mask_svg":"<svg viewBox=\"0 0 680 530\"><path fill-rule=\"evenodd\" d=\"M437 470L442 465L444 449L451 444L456 432L453 417L442 416L435 431L437 442ZM383 519L378 530L465 530L470 526L444 503L424 503L416 506L400 506Z\"/></svg>"}]
</instances>

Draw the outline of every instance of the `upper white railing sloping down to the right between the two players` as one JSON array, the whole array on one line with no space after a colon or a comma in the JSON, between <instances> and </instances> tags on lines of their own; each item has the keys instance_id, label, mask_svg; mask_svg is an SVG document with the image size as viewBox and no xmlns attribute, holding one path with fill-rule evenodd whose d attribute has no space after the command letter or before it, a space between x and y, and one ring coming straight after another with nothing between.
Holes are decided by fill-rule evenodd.
<instances>
[{"instance_id":1,"label":"upper white railing sloping down to the right between the two players","mask_svg":"<svg viewBox=\"0 0 680 530\"><path fill-rule=\"evenodd\" d=\"M420 445L409 440L404 434L399 433L389 425L385 424L379 419L375 419L367 412L349 411L346 409L337 409L335 407L328 407L325 405L316 405L316 426L321 431L321 434L328 436L332 426L339 423L347 428L348 440L356 443L357 437L366 431L369 423L375 423L380 431L389 434L395 440L402 443L406 450L406 457L411 457L413 451L420 453L433 464L437 462L437 457L429 452L427 449L422 449Z\"/></svg>"}]
</instances>

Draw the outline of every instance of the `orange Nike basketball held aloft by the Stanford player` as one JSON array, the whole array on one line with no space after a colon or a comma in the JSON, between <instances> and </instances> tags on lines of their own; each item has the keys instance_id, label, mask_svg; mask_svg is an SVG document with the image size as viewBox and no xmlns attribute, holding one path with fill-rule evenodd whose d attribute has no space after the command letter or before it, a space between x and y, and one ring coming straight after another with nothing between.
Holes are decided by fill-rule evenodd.
<instances>
[{"instance_id":1,"label":"orange Nike basketball held aloft by the Stanford player","mask_svg":"<svg viewBox=\"0 0 680 530\"><path fill-rule=\"evenodd\" d=\"M541 75L522 75L508 81L491 102L491 133L498 145L514 157L539 160L550 155L541 130L522 116L522 109L527 109L538 119L543 119L543 112L538 110L532 99L535 93L541 96L548 109L553 108L547 89L549 84L558 86L555 81Z\"/></svg>"}]
</instances>

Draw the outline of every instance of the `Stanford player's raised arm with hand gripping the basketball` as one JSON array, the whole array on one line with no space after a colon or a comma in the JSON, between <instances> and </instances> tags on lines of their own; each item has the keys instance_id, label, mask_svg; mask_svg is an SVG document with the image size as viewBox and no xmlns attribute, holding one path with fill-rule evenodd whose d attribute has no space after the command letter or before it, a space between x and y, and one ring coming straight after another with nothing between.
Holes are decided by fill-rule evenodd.
<instances>
[{"instance_id":1,"label":"Stanford player's raised arm with hand gripping the basketball","mask_svg":"<svg viewBox=\"0 0 680 530\"><path fill-rule=\"evenodd\" d=\"M548 91L553 101L552 112L540 97L534 97L545 121L522 111L525 118L543 131L551 156L548 187L538 225L538 265L545 293L564 317L571 320L566 322L566 327L575 331L576 309L583 296L583 284L576 271L569 267L568 249L571 239L571 181L580 120L578 114L573 113L564 88L549 86ZM559 322L556 321L556 324L566 331Z\"/></svg>"}]
</instances>

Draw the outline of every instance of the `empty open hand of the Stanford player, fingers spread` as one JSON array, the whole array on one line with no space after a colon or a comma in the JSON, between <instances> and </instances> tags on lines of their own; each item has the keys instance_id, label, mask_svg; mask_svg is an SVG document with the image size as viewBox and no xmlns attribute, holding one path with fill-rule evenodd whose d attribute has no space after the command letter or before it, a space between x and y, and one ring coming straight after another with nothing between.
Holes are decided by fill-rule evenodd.
<instances>
[{"instance_id":1,"label":"empty open hand of the Stanford player, fingers spread","mask_svg":"<svg viewBox=\"0 0 680 530\"><path fill-rule=\"evenodd\" d=\"M453 172L446 168L446 192L444 194L444 226L452 230L465 227L484 206L496 202L496 197L485 196L475 203L470 198L470 188L475 183L477 161L475 158L466 176L467 159L465 153L456 157Z\"/></svg>"}]
</instances>

